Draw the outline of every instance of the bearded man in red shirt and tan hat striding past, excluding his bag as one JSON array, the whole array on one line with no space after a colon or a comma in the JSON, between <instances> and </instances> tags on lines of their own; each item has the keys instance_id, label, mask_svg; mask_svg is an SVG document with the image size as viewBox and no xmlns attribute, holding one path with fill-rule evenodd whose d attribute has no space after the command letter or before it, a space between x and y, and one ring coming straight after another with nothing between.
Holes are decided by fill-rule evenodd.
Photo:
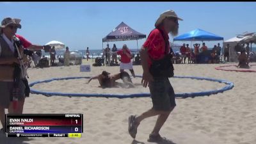
<instances>
[{"instance_id":1,"label":"bearded man in red shirt and tan hat striding past, excluding his bag","mask_svg":"<svg viewBox=\"0 0 256 144\"><path fill-rule=\"evenodd\" d=\"M141 83L146 88L149 86L153 107L140 116L129 116L128 131L132 138L136 137L138 125L145 118L158 116L156 125L149 135L149 142L163 140L159 131L164 122L175 108L175 93L167 76L152 76L149 68L152 66L152 60L161 60L170 52L169 36L178 34L180 19L173 10L161 13L157 19L155 27L147 41L141 47L141 65L143 67L143 78ZM167 49L167 48L168 49Z\"/></svg>"}]
</instances>

